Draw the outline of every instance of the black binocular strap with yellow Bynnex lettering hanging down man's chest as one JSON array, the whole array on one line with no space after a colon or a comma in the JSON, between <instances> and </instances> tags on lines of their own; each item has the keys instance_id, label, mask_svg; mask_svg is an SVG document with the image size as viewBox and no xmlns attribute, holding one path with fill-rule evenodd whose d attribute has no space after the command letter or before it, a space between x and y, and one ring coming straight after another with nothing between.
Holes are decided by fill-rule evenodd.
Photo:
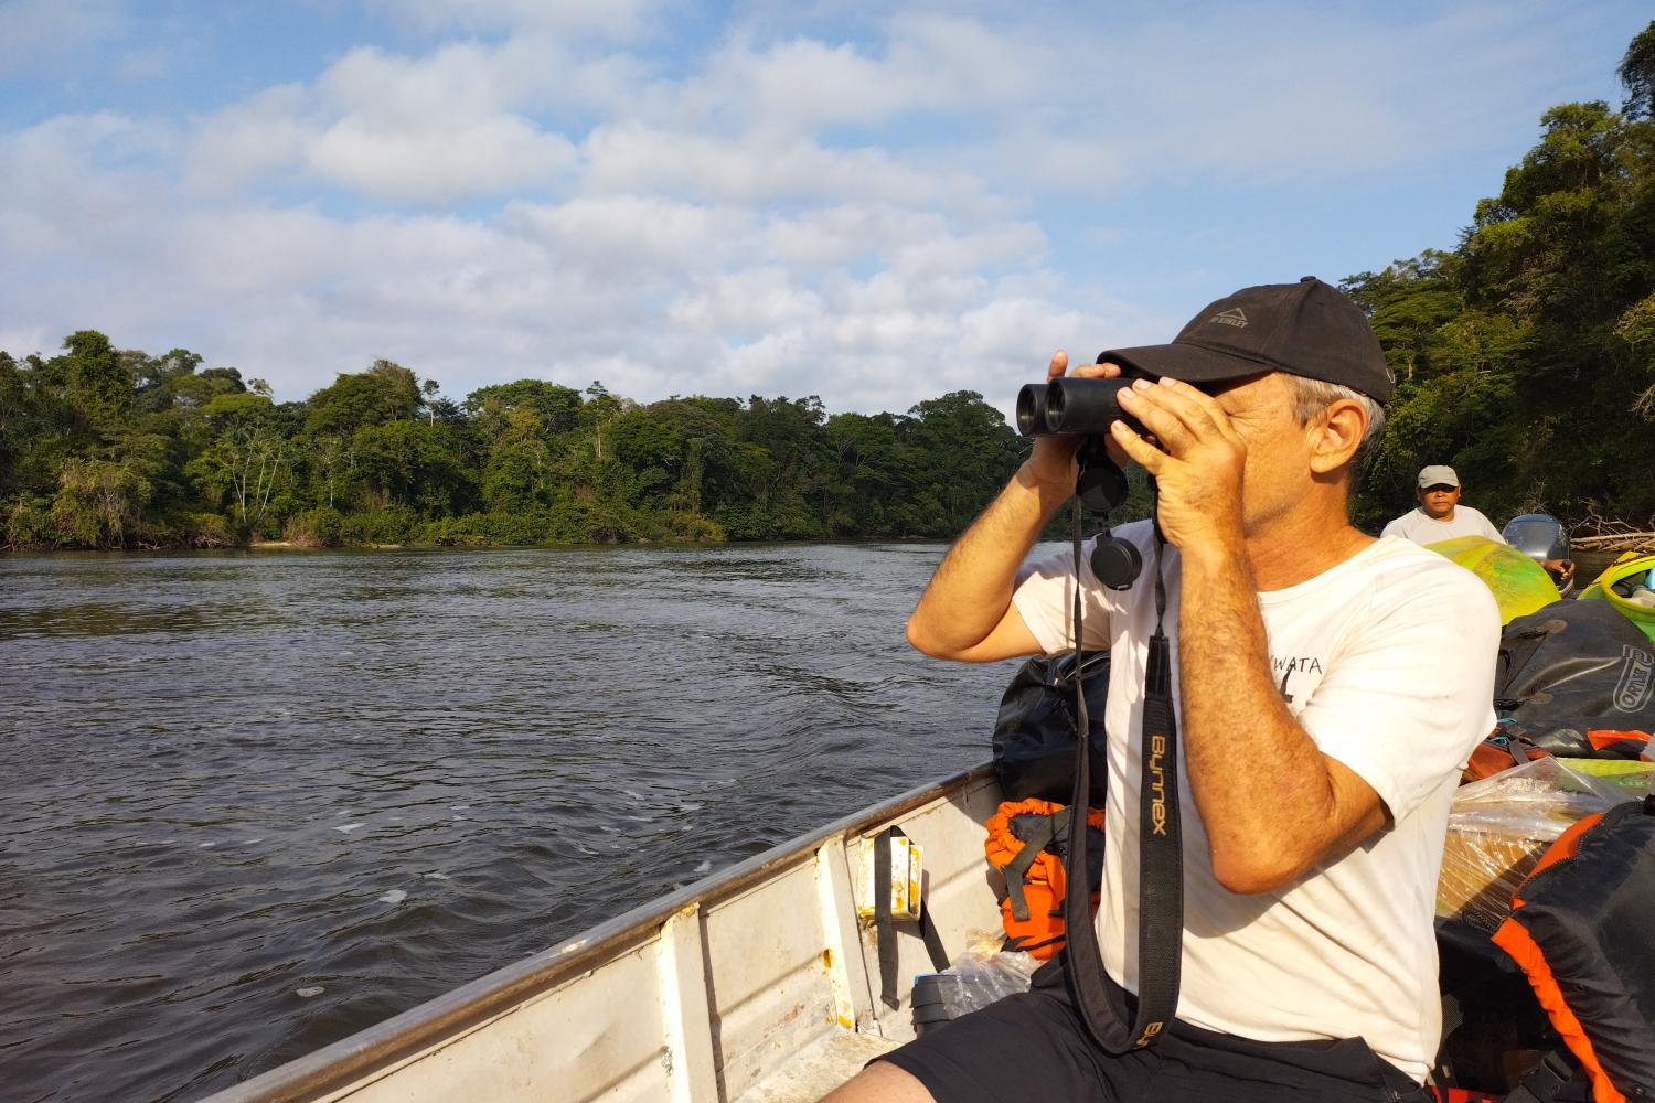
<instances>
[{"instance_id":1,"label":"black binocular strap with yellow Bynnex lettering hanging down man's chest","mask_svg":"<svg viewBox=\"0 0 1655 1103\"><path fill-rule=\"evenodd\" d=\"M1155 635L1149 642L1144 675L1144 724L1139 754L1139 921L1137 1014L1112 999L1104 986L1104 959L1092 923L1086 843L1089 832L1069 832L1067 886L1063 929L1067 938L1064 969L1069 991L1087 1034L1111 1053L1154 1045L1178 1010L1178 972L1183 954L1183 842L1178 824L1178 716L1172 708L1172 645L1163 630L1167 582L1162 577L1165 539L1155 523ZM1081 506L1074 506L1074 657L1081 661ZM1076 678L1074 795L1071 822L1086 824L1091 799L1091 719L1086 686ZM1109 845L1106 833L1104 845Z\"/></svg>"}]
</instances>

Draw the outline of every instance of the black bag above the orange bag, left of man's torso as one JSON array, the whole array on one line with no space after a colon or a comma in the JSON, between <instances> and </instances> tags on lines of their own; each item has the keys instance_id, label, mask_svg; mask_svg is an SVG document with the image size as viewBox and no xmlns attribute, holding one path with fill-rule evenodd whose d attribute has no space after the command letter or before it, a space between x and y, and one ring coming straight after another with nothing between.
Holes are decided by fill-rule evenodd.
<instances>
[{"instance_id":1,"label":"black bag above the orange bag, left of man's torso","mask_svg":"<svg viewBox=\"0 0 1655 1103\"><path fill-rule=\"evenodd\" d=\"M1104 701L1109 652L1086 655L1086 711L1092 729L1092 800L1102 807L1109 762ZM1067 804L1074 795L1074 653L1036 657L1018 668L995 719L995 772L1006 800L1038 797Z\"/></svg>"}]
</instances>

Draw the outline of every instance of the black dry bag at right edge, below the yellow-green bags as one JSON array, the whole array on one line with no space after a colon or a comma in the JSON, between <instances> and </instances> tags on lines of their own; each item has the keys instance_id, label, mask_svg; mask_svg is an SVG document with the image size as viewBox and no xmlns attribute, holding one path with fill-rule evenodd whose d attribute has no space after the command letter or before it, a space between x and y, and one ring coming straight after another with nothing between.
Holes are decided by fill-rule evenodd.
<instances>
[{"instance_id":1,"label":"black dry bag at right edge, below the yellow-green bags","mask_svg":"<svg viewBox=\"0 0 1655 1103\"><path fill-rule=\"evenodd\" d=\"M1652 650L1609 602L1552 602L1501 633L1494 708L1552 754L1592 754L1594 728L1655 731Z\"/></svg>"}]
</instances>

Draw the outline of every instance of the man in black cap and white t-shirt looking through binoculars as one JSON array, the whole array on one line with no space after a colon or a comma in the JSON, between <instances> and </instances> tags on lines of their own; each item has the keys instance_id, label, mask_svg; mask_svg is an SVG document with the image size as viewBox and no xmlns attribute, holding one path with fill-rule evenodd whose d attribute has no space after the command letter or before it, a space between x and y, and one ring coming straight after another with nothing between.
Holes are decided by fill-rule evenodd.
<instances>
[{"instance_id":1,"label":"man in black cap and white t-shirt looking through binoculars","mask_svg":"<svg viewBox=\"0 0 1655 1103\"><path fill-rule=\"evenodd\" d=\"M1041 435L943 557L909 640L965 661L1061 652L1079 585L1084 647L1114 655L1097 941L1106 984L1137 992L1158 572L1183 742L1177 1015L1152 1045L1106 1050L1048 966L1031 992L889 1053L831 1100L1427 1098L1437 871L1460 767L1494 723L1493 597L1349 523L1392 377L1334 288L1245 288L1170 344L1099 361L1074 377L1134 380L1119 407L1145 432L1115 422L1107 450L1154 476L1165 546L1149 521L1119 528L1144 562L1119 590L1084 551L1024 562L1076 486L1081 438ZM1058 352L1048 377L1066 375Z\"/></svg>"}]
</instances>

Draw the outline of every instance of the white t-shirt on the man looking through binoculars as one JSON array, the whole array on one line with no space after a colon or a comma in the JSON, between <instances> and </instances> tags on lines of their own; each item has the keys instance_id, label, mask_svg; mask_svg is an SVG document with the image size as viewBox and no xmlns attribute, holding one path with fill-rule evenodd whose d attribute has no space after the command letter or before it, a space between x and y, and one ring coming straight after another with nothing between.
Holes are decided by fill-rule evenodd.
<instances>
[{"instance_id":1,"label":"white t-shirt on the man looking through binoculars","mask_svg":"<svg viewBox=\"0 0 1655 1103\"><path fill-rule=\"evenodd\" d=\"M1129 590L1099 585L1082 557L1086 643L1109 647L1109 797L1097 938L1109 976L1137 991L1139 779L1144 668L1155 628L1154 536ZM1048 653L1072 647L1072 556L1034 556L1015 604ZM1178 551L1165 549L1167 637L1178 701ZM1392 827L1284 888L1241 896L1213 876L1185 756L1183 979L1178 1019L1259 1042L1357 1037L1415 1080L1442 1029L1432 916L1448 805L1471 749L1494 728L1494 597L1476 575L1405 541L1258 595L1271 678L1327 756L1385 802ZM1180 709L1182 711L1182 709ZM1246 716L1226 736L1250 754ZM1130 948L1130 949L1129 949Z\"/></svg>"}]
</instances>

